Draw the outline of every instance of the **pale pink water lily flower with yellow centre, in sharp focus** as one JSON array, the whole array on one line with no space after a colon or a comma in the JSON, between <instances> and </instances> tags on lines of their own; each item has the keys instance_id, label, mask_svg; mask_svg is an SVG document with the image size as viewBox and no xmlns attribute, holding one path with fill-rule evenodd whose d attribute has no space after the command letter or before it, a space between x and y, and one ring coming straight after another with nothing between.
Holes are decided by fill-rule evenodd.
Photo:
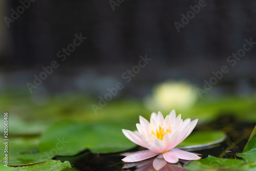
<instances>
[{"instance_id":1,"label":"pale pink water lily flower with yellow centre, in sharp focus","mask_svg":"<svg viewBox=\"0 0 256 171\"><path fill-rule=\"evenodd\" d=\"M150 122L140 116L140 123L137 123L138 131L132 132L122 130L123 134L132 142L147 148L146 150L124 154L124 162L138 162L152 157L156 157L153 166L156 170L166 165L166 162L177 163L179 159L199 160L201 157L194 153L175 148L181 143L195 128L198 119L181 119L181 115L176 118L173 110L164 119L161 112L152 113ZM164 160L159 160L164 159Z\"/></svg>"}]
</instances>

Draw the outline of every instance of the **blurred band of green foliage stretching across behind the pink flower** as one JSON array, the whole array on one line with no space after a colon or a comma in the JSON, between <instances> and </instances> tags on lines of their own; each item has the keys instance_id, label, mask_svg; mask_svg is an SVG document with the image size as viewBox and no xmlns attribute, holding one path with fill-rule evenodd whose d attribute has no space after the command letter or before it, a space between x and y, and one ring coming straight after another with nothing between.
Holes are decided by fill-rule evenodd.
<instances>
[{"instance_id":1,"label":"blurred band of green foliage stretching across behind the pink flower","mask_svg":"<svg viewBox=\"0 0 256 171\"><path fill-rule=\"evenodd\" d=\"M33 97L33 98L32 98ZM91 105L97 104L93 99L81 93L52 94L40 101L40 95L28 96L17 92L4 92L0 96L0 109L9 113L9 133L40 134L47 127L61 120L80 121L84 123L120 123L126 129L135 130L138 116L150 118L140 99L115 99L98 111ZM39 102L36 100L39 100ZM199 118L200 122L209 122L221 114L231 114L248 122L256 121L256 96L221 96L204 97L190 109L179 109L182 118ZM170 111L161 111L167 115ZM2 114L1 114L2 115ZM3 117L0 118L2 120Z\"/></svg>"}]
</instances>

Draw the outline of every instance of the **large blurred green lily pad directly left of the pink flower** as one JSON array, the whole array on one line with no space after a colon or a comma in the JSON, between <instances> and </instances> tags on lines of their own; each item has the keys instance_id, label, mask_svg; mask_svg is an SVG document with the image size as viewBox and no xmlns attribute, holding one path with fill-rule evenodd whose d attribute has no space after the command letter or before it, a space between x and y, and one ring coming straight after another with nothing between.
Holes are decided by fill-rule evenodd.
<instances>
[{"instance_id":1,"label":"large blurred green lily pad directly left of the pink flower","mask_svg":"<svg viewBox=\"0 0 256 171\"><path fill-rule=\"evenodd\" d=\"M122 125L109 123L59 122L41 136L39 152L53 155L76 155L89 148L93 153L123 151L135 146L122 131Z\"/></svg>"}]
</instances>

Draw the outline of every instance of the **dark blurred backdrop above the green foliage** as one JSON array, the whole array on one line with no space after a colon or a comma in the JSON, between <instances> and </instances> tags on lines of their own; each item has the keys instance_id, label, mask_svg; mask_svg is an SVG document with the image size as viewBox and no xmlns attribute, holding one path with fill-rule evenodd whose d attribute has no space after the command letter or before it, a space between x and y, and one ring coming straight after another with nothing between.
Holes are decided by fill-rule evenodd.
<instances>
[{"instance_id":1,"label":"dark blurred backdrop above the green foliage","mask_svg":"<svg viewBox=\"0 0 256 171\"><path fill-rule=\"evenodd\" d=\"M59 67L33 91L83 91L104 94L138 64L140 55L152 60L125 86L120 95L142 97L166 79L187 79L202 87L204 79L226 65L229 72L212 91L251 93L255 90L256 47L231 67L227 58L256 41L256 2L205 1L180 32L174 22L198 1L35 1L9 23L20 1L1 1L0 88L21 88L52 60ZM65 61L57 52L67 48L74 34L87 37Z\"/></svg>"}]
</instances>

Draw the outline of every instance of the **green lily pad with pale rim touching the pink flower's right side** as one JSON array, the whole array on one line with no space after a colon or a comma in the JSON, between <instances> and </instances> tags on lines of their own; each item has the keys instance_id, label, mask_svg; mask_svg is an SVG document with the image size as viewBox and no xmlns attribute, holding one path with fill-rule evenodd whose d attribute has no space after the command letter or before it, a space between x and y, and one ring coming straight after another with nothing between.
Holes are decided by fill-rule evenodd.
<instances>
[{"instance_id":1,"label":"green lily pad with pale rim touching the pink flower's right side","mask_svg":"<svg viewBox=\"0 0 256 171\"><path fill-rule=\"evenodd\" d=\"M201 148L218 144L226 139L226 133L222 131L201 131L189 135L177 147L181 149Z\"/></svg>"}]
</instances>

